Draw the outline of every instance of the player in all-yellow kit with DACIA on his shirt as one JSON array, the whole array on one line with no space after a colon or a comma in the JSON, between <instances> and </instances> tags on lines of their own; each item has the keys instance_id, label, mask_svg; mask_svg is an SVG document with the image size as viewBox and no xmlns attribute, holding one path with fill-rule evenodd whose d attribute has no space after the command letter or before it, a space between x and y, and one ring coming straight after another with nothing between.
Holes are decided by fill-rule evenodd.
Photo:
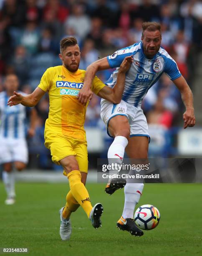
<instances>
[{"instance_id":1,"label":"player in all-yellow kit with DACIA on his shirt","mask_svg":"<svg viewBox=\"0 0 202 256\"><path fill-rule=\"evenodd\" d=\"M22 104L35 106L41 97L48 92L50 108L45 122L45 146L50 149L52 160L63 166L63 174L68 177L70 191L66 196L66 206L60 210L62 240L71 236L71 212L81 205L91 220L94 228L101 226L103 206L91 205L85 187L88 172L88 154L86 132L83 128L86 105L81 104L77 95L83 87L85 70L78 69L81 53L76 38L67 37L60 42L59 57L61 66L48 68L40 84L30 95L23 96L14 92L8 105ZM113 103L119 103L124 90L125 74L130 68L132 56L124 59L119 69L114 88L107 87L98 77L93 79L91 90L98 96Z\"/></svg>"}]
</instances>

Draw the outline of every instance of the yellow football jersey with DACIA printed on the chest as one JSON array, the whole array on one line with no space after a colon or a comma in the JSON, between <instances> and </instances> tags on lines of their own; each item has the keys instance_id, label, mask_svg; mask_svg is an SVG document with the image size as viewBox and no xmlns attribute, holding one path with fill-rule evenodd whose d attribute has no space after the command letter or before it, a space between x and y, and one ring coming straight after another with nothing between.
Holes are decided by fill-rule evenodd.
<instances>
[{"instance_id":1,"label":"yellow football jersey with DACIA printed on the chest","mask_svg":"<svg viewBox=\"0 0 202 256\"><path fill-rule=\"evenodd\" d=\"M78 69L72 73L64 66L50 67L45 71L38 87L48 92L50 107L45 122L45 132L60 133L65 136L86 141L84 122L86 106L81 104L77 95L83 87L86 71ZM91 90L98 92L105 84L95 77Z\"/></svg>"}]
</instances>

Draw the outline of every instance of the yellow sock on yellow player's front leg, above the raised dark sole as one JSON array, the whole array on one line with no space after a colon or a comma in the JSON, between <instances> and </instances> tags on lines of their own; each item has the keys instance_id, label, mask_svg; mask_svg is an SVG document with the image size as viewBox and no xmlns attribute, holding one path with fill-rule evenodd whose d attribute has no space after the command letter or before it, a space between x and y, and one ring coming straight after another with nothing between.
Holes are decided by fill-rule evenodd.
<instances>
[{"instance_id":1,"label":"yellow sock on yellow player's front leg, above the raised dark sole","mask_svg":"<svg viewBox=\"0 0 202 256\"><path fill-rule=\"evenodd\" d=\"M81 205L89 217L93 207L91 205L88 191L84 184L81 182L81 173L78 170L74 170L68 173L67 177L73 197L76 199L79 205Z\"/></svg>"}]
</instances>

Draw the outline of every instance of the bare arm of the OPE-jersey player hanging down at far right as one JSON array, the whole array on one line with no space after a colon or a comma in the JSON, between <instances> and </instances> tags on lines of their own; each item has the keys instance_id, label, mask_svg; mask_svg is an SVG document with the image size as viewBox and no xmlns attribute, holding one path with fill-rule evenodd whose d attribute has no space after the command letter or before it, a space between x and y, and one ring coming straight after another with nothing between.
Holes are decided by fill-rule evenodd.
<instances>
[{"instance_id":1,"label":"bare arm of the OPE-jersey player hanging down at far right","mask_svg":"<svg viewBox=\"0 0 202 256\"><path fill-rule=\"evenodd\" d=\"M195 125L195 115L192 91L183 76L173 80L173 82L179 89L182 101L186 108L186 111L183 114L184 129L187 127L193 127Z\"/></svg>"}]
</instances>

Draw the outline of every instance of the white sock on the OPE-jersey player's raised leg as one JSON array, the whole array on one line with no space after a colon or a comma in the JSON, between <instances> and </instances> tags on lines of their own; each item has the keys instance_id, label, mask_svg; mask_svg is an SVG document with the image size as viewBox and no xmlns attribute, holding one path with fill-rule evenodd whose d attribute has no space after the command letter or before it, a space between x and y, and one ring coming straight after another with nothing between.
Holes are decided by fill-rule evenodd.
<instances>
[{"instance_id":1,"label":"white sock on the OPE-jersey player's raised leg","mask_svg":"<svg viewBox=\"0 0 202 256\"><path fill-rule=\"evenodd\" d=\"M108 150L108 162L109 164L122 164L124 158L124 151L128 145L128 140L124 136L116 136L114 141L111 143L111 146ZM118 170L109 171L109 175L117 174ZM109 178L110 182L111 178Z\"/></svg>"}]
</instances>

